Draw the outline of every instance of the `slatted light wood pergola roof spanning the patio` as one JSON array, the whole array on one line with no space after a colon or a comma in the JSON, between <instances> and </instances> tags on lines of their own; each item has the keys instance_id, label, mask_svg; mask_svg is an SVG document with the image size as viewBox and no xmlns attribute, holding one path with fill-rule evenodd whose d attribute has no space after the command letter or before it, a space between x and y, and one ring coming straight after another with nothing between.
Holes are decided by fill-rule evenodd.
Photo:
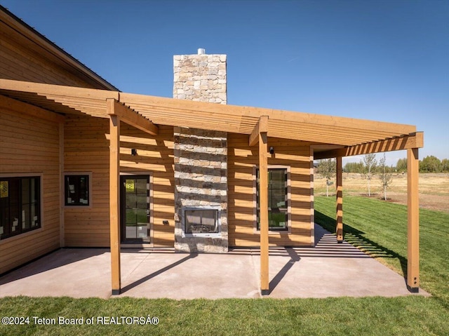
<instances>
[{"instance_id":1,"label":"slatted light wood pergola roof spanning the patio","mask_svg":"<svg viewBox=\"0 0 449 336\"><path fill-rule=\"evenodd\" d=\"M387 140L416 132L415 126L398 123L220 105L8 79L0 79L0 93L58 113L82 113L100 118L109 118L106 113L106 99L113 98L145 119L151 120L154 125L224 130L247 135L253 133L260 116L269 116L268 137L342 147Z\"/></svg>"}]
</instances>

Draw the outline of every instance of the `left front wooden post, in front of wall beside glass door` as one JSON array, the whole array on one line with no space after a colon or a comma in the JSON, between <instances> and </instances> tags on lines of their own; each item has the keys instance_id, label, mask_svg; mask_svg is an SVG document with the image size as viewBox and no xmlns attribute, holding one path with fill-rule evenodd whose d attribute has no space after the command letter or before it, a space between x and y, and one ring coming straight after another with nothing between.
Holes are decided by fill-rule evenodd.
<instances>
[{"instance_id":1,"label":"left front wooden post, in front of wall beside glass door","mask_svg":"<svg viewBox=\"0 0 449 336\"><path fill-rule=\"evenodd\" d=\"M120 274L120 118L114 115L114 99L107 99L109 114L109 220L112 295L121 291Z\"/></svg>"}]
</instances>

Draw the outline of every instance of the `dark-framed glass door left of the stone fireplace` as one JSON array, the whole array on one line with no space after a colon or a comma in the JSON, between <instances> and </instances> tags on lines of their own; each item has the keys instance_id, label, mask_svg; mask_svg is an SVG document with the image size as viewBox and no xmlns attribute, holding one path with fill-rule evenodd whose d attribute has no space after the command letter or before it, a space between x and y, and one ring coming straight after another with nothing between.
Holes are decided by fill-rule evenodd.
<instances>
[{"instance_id":1,"label":"dark-framed glass door left of the stone fireplace","mask_svg":"<svg viewBox=\"0 0 449 336\"><path fill-rule=\"evenodd\" d=\"M123 175L121 191L121 241L149 243L149 176Z\"/></svg>"}]
</instances>

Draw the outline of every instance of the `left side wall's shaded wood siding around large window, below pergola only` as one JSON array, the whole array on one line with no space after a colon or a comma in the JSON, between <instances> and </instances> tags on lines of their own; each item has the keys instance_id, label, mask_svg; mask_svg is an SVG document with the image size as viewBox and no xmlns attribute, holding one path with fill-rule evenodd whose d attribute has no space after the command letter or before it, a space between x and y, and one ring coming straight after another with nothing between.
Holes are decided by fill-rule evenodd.
<instances>
[{"instance_id":1,"label":"left side wall's shaded wood siding around large window, below pergola only","mask_svg":"<svg viewBox=\"0 0 449 336\"><path fill-rule=\"evenodd\" d=\"M41 228L0 241L0 274L60 246L60 127L36 112L0 96L0 175L41 175L43 195Z\"/></svg>"}]
</instances>

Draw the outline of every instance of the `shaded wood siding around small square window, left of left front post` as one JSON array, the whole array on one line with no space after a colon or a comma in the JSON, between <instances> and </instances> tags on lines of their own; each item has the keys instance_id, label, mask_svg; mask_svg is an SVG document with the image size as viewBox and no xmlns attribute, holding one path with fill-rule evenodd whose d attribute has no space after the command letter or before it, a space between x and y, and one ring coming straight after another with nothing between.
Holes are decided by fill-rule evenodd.
<instances>
[{"instance_id":1,"label":"shaded wood siding around small square window, left of left front post","mask_svg":"<svg viewBox=\"0 0 449 336\"><path fill-rule=\"evenodd\" d=\"M86 133L86 130L91 130ZM65 207L65 246L109 246L109 120L67 116L64 172L91 172L91 206Z\"/></svg>"}]
</instances>

